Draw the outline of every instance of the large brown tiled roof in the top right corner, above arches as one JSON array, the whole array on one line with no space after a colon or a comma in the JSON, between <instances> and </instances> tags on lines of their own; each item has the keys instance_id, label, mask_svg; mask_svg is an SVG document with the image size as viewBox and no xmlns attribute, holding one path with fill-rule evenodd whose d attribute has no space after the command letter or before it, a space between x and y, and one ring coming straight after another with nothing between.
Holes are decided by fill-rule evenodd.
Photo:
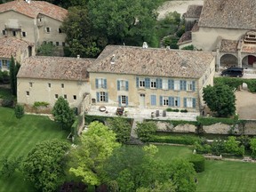
<instances>
[{"instance_id":1,"label":"large brown tiled roof in the top right corner, above arches","mask_svg":"<svg viewBox=\"0 0 256 192\"><path fill-rule=\"evenodd\" d=\"M256 29L255 0L204 0L199 27Z\"/></svg>"}]
</instances>

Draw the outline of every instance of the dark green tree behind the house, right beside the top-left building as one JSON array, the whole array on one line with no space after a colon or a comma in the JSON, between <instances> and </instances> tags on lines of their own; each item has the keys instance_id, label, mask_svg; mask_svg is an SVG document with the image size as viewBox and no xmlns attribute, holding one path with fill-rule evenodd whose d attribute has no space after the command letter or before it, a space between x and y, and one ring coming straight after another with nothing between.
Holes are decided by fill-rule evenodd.
<instances>
[{"instance_id":1,"label":"dark green tree behind the house, right beside the top-left building","mask_svg":"<svg viewBox=\"0 0 256 192\"><path fill-rule=\"evenodd\" d=\"M61 28L67 35L66 42L70 56L79 54L80 57L97 57L108 44L104 33L92 28L92 20L89 19L86 8L68 9L68 17L63 21Z\"/></svg>"}]
</instances>

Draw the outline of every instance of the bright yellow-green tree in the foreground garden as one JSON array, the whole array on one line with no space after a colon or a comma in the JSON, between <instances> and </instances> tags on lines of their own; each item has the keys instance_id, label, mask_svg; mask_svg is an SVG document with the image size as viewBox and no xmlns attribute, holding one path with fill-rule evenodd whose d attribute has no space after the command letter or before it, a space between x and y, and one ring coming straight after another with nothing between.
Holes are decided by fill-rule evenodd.
<instances>
[{"instance_id":1,"label":"bright yellow-green tree in the foreground garden","mask_svg":"<svg viewBox=\"0 0 256 192\"><path fill-rule=\"evenodd\" d=\"M99 186L102 180L102 166L112 155L116 134L99 122L89 124L88 131L81 136L81 144L71 152L71 168L77 177L86 184Z\"/></svg>"}]
</instances>

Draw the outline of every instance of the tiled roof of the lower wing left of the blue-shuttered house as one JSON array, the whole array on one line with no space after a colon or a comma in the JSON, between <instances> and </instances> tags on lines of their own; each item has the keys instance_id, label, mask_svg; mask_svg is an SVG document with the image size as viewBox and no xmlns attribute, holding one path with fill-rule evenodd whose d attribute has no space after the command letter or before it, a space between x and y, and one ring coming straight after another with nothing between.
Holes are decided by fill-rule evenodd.
<instances>
[{"instance_id":1,"label":"tiled roof of the lower wing left of the blue-shuttered house","mask_svg":"<svg viewBox=\"0 0 256 192\"><path fill-rule=\"evenodd\" d=\"M88 80L87 68L94 59L34 56L23 60L18 77Z\"/></svg>"}]
</instances>

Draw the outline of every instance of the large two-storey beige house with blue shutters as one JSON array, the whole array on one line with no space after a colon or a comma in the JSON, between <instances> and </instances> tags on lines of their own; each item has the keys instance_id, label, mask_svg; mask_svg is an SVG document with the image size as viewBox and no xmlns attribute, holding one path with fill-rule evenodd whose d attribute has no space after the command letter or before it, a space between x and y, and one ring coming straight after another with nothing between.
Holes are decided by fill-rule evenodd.
<instances>
[{"instance_id":1,"label":"large two-storey beige house with blue shutters","mask_svg":"<svg viewBox=\"0 0 256 192\"><path fill-rule=\"evenodd\" d=\"M108 45L90 73L92 104L129 108L204 108L213 84L212 52Z\"/></svg>"}]
</instances>

